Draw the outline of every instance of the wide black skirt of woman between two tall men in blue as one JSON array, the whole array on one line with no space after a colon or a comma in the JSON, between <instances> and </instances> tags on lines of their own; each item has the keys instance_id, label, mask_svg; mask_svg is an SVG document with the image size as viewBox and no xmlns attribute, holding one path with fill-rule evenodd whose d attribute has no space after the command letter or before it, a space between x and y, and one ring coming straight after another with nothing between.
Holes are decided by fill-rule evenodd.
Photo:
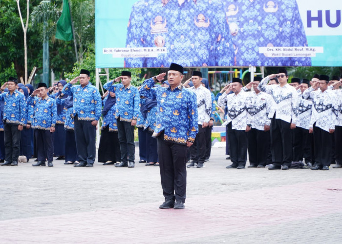
<instances>
[{"instance_id":1,"label":"wide black skirt of woman between two tall men in blue","mask_svg":"<svg viewBox=\"0 0 342 244\"><path fill-rule=\"evenodd\" d=\"M98 162L120 162L120 142L117 132L109 132L109 125L101 131L99 150L97 151Z\"/></svg>"}]
</instances>

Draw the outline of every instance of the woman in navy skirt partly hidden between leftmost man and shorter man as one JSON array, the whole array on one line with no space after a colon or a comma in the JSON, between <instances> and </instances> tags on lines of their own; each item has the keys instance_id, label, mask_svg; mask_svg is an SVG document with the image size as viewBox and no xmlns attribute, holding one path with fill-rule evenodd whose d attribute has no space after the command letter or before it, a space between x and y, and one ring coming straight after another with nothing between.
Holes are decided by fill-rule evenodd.
<instances>
[{"instance_id":1,"label":"woman in navy skirt partly hidden between leftmost man and shorter man","mask_svg":"<svg viewBox=\"0 0 342 244\"><path fill-rule=\"evenodd\" d=\"M28 90L24 85L21 85L19 88L19 91L24 94L25 99L28 98ZM27 104L27 103L26 103ZM31 105L26 106L27 111L27 117L26 117L26 126L23 127L21 131L21 138L20 138L20 155L23 155L26 157L27 162L32 156L32 144L31 144L31 138L32 138L32 129L31 129L31 122L33 118L33 108Z\"/></svg>"}]
</instances>

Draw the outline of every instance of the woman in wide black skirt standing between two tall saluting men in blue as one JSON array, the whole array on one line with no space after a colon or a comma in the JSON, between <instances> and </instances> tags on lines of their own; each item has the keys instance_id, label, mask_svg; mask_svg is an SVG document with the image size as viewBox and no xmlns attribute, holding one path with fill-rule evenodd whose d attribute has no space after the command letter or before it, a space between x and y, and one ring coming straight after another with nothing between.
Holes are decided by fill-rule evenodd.
<instances>
[{"instance_id":1,"label":"woman in wide black skirt standing between two tall saluting men in blue","mask_svg":"<svg viewBox=\"0 0 342 244\"><path fill-rule=\"evenodd\" d=\"M101 137L97 155L99 163L103 163L103 165L108 165L115 164L116 162L121 161L118 127L116 125L115 119L115 93L109 92L109 95L107 93L107 98L103 100L103 104L103 123L101 126Z\"/></svg>"}]
</instances>

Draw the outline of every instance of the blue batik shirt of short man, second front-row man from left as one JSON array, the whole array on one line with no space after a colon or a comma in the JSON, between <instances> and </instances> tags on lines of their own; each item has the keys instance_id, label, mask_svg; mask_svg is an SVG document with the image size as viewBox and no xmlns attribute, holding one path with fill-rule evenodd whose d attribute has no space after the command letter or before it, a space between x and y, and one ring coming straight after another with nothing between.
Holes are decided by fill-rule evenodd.
<instances>
[{"instance_id":1,"label":"blue batik shirt of short man, second front-row man from left","mask_svg":"<svg viewBox=\"0 0 342 244\"><path fill-rule=\"evenodd\" d=\"M33 129L50 130L56 126L57 105L53 98L37 98L32 95L28 97L27 103L34 106Z\"/></svg>"}]
</instances>

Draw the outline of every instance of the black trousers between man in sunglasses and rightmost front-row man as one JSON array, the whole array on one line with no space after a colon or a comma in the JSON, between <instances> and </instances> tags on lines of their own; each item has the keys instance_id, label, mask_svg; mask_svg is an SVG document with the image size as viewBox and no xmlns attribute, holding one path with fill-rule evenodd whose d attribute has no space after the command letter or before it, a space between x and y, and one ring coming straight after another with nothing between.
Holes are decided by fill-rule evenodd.
<instances>
[{"instance_id":1,"label":"black trousers between man in sunglasses and rightmost front-row man","mask_svg":"<svg viewBox=\"0 0 342 244\"><path fill-rule=\"evenodd\" d=\"M311 140L312 134L309 130L296 127L293 130L293 154L292 160L295 162L305 159L305 163L311 163Z\"/></svg>"}]
</instances>

